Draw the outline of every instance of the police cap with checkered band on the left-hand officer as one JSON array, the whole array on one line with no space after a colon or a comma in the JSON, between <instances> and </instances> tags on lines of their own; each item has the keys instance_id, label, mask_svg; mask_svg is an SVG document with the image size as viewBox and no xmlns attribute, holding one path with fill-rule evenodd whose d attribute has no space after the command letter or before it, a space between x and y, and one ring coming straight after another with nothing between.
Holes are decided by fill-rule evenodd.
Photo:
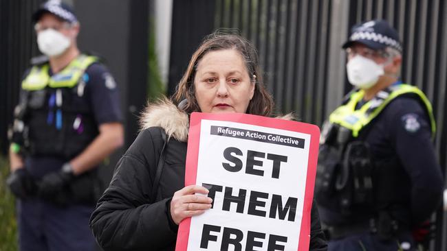
<instances>
[{"instance_id":1,"label":"police cap with checkered band on the left-hand officer","mask_svg":"<svg viewBox=\"0 0 447 251\"><path fill-rule=\"evenodd\" d=\"M66 3L61 3L60 0L50 0L43 3L32 17L34 23L39 21L44 13L54 14L54 16L58 16L60 19L63 19L68 23L78 23L78 19L76 19L73 9Z\"/></svg>"}]
</instances>

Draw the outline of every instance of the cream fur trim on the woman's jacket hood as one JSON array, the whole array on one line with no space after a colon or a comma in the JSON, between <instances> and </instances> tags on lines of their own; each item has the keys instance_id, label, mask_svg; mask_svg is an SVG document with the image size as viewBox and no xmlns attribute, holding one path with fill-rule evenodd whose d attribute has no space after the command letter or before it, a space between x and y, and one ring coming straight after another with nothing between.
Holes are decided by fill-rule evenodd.
<instances>
[{"instance_id":1,"label":"cream fur trim on the woman's jacket hood","mask_svg":"<svg viewBox=\"0 0 447 251\"><path fill-rule=\"evenodd\" d=\"M289 113L277 119L293 120L294 115ZM189 118L168 99L160 99L154 104L148 105L141 114L141 130L151 127L161 127L168 137L173 137L177 141L188 141Z\"/></svg>"}]
</instances>

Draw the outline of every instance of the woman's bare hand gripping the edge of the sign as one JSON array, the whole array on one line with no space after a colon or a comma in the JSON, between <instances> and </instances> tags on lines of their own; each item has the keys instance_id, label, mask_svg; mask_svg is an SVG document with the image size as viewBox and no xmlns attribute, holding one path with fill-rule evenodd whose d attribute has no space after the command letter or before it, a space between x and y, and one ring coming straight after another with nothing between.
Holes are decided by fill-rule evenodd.
<instances>
[{"instance_id":1,"label":"woman's bare hand gripping the edge of the sign","mask_svg":"<svg viewBox=\"0 0 447 251\"><path fill-rule=\"evenodd\" d=\"M195 184L184 187L174 193L171 200L171 217L175 224L180 224L186 217L200 215L211 208L212 199L195 193L208 195L208 189Z\"/></svg>"}]
</instances>

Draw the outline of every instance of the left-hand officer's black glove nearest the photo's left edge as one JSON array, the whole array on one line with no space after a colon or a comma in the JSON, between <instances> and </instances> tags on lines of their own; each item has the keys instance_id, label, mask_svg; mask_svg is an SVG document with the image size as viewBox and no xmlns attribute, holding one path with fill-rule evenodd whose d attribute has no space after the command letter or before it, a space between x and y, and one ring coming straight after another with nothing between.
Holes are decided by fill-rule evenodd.
<instances>
[{"instance_id":1,"label":"left-hand officer's black glove nearest the photo's left edge","mask_svg":"<svg viewBox=\"0 0 447 251\"><path fill-rule=\"evenodd\" d=\"M36 182L25 168L19 168L8 176L6 184L17 198L27 198L36 193Z\"/></svg>"}]
</instances>

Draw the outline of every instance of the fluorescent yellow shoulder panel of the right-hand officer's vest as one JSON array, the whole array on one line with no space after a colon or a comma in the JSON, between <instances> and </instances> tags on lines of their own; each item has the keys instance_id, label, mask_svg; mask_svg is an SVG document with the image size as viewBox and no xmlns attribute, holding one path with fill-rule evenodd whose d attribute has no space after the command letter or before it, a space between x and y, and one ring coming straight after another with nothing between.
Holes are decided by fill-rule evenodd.
<instances>
[{"instance_id":1,"label":"fluorescent yellow shoulder panel of the right-hand officer's vest","mask_svg":"<svg viewBox=\"0 0 447 251\"><path fill-rule=\"evenodd\" d=\"M357 137L360 130L377 117L393 99L400 95L410 93L415 94L425 104L428 117L430 117L432 137L434 137L436 124L430 101L428 101L427 97L419 90L419 88L408 84L397 84L395 86L390 86L385 91L380 91L373 99L368 101L358 110L356 110L356 105L358 101L362 100L364 91L356 91L351 94L347 104L338 107L331 113L329 121L348 128L352 131L352 136Z\"/></svg>"}]
</instances>

